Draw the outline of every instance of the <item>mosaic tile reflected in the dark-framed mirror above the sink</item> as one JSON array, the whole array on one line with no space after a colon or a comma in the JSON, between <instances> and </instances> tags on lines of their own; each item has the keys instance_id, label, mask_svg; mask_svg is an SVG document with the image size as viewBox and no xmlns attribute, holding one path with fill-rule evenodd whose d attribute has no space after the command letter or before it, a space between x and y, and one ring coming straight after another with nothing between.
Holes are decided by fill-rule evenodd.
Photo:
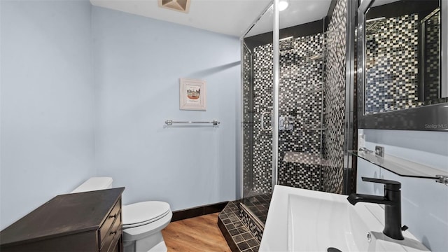
<instances>
[{"instance_id":1,"label":"mosaic tile reflected in the dark-framed mirror above the sink","mask_svg":"<svg viewBox=\"0 0 448 252\"><path fill-rule=\"evenodd\" d=\"M366 114L422 105L418 46L416 14L385 18L376 22L375 29L366 29Z\"/></svg>"}]
</instances>

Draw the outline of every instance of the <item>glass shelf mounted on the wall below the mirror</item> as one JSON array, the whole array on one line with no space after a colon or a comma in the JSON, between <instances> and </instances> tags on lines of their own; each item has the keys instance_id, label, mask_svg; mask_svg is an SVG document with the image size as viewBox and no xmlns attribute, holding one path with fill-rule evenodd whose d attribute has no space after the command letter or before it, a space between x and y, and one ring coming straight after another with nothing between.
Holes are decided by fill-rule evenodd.
<instances>
[{"instance_id":1,"label":"glass shelf mounted on the wall below the mirror","mask_svg":"<svg viewBox=\"0 0 448 252\"><path fill-rule=\"evenodd\" d=\"M365 153L363 151L349 151L349 154L362 158L399 176L435 179L437 182L447 184L448 172L428 167L427 165L397 158L393 155L384 155L384 158L381 158L374 153Z\"/></svg>"}]
</instances>

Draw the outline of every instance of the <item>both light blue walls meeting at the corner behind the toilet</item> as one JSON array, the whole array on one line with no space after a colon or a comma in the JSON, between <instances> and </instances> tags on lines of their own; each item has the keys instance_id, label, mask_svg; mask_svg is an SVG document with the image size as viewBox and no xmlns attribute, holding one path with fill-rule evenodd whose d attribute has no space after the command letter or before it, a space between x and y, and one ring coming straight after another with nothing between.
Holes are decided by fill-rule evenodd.
<instances>
[{"instance_id":1,"label":"both light blue walls meeting at the corner behind the toilet","mask_svg":"<svg viewBox=\"0 0 448 252\"><path fill-rule=\"evenodd\" d=\"M237 38L88 1L0 4L0 229L90 176L125 186L126 204L235 199ZM207 80L207 111L179 110L179 78Z\"/></svg>"}]
</instances>

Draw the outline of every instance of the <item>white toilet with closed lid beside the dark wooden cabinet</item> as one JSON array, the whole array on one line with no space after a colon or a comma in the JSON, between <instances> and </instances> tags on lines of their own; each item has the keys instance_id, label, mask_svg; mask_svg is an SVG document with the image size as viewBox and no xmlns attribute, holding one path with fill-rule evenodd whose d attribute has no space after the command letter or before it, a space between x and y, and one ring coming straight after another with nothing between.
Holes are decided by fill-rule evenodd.
<instances>
[{"instance_id":1,"label":"white toilet with closed lid beside the dark wooden cabinet","mask_svg":"<svg viewBox=\"0 0 448 252\"><path fill-rule=\"evenodd\" d=\"M87 179L71 193L112 188L111 177ZM166 252L162 229L167 227L173 214L167 202L148 201L122 206L123 248L125 252Z\"/></svg>"}]
</instances>

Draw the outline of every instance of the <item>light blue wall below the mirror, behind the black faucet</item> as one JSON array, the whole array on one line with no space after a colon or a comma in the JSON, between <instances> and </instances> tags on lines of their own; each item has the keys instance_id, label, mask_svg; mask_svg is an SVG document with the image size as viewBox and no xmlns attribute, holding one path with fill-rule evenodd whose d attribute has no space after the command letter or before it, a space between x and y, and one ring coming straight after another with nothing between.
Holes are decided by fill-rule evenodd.
<instances>
[{"instance_id":1,"label":"light blue wall below the mirror, behind the black faucet","mask_svg":"<svg viewBox=\"0 0 448 252\"><path fill-rule=\"evenodd\" d=\"M384 146L388 155L448 172L447 132L359 130L365 146ZM392 179L402 183L402 225L431 251L448 248L448 187L431 179L405 178L358 158L358 193L383 195L384 186L361 181L361 176Z\"/></svg>"}]
</instances>

